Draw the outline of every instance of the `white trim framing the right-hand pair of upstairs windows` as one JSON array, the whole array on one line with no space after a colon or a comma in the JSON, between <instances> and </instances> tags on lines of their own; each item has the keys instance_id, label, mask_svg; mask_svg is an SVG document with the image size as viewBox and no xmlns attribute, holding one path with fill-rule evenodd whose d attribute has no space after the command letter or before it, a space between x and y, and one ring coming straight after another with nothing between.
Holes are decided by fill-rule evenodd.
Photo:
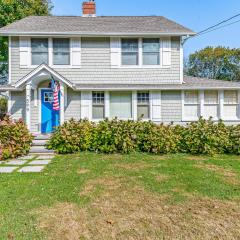
<instances>
[{"instance_id":1,"label":"white trim framing the right-hand pair of upstairs windows","mask_svg":"<svg viewBox=\"0 0 240 240\"><path fill-rule=\"evenodd\" d=\"M138 65L122 65L122 39L138 39ZM159 39L159 54L160 54L160 64L159 65L143 65L143 39L146 38L158 38ZM120 66L119 68L122 69L169 69L171 68L171 65L169 66L163 66L163 59L162 59L162 54L163 53L163 49L162 49L162 40L159 37L121 37L120 38Z\"/></svg>"}]
</instances>

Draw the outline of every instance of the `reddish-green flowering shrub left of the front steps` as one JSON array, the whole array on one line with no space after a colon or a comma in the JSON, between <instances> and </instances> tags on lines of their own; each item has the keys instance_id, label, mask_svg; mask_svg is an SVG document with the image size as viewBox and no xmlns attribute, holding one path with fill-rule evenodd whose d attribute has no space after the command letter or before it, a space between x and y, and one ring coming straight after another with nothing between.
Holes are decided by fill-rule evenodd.
<instances>
[{"instance_id":1,"label":"reddish-green flowering shrub left of the front steps","mask_svg":"<svg viewBox=\"0 0 240 240\"><path fill-rule=\"evenodd\" d=\"M29 152L33 136L22 121L13 121L9 116L0 120L0 160L15 158Z\"/></svg>"}]
</instances>

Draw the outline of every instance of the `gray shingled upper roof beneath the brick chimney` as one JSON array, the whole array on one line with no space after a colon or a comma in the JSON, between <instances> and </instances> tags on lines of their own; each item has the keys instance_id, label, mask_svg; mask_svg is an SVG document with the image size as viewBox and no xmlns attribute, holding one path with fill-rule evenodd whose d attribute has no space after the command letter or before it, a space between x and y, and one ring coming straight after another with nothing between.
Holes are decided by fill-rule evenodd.
<instances>
[{"instance_id":1,"label":"gray shingled upper roof beneath the brick chimney","mask_svg":"<svg viewBox=\"0 0 240 240\"><path fill-rule=\"evenodd\" d=\"M30 16L0 29L0 35L194 35L161 16Z\"/></svg>"}]
</instances>

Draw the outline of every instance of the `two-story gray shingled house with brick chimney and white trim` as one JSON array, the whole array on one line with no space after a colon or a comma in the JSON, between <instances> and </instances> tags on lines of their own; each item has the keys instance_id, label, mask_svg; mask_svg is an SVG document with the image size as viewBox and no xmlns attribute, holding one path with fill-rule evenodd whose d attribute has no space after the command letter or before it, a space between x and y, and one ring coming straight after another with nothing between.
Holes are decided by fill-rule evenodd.
<instances>
[{"instance_id":1,"label":"two-story gray shingled house with brick chimney and white trim","mask_svg":"<svg viewBox=\"0 0 240 240\"><path fill-rule=\"evenodd\" d=\"M89 1L82 17L27 17L0 35L9 38L9 80L0 91L33 133L71 118L240 122L240 84L184 77L182 40L194 32L164 17L98 17Z\"/></svg>"}]
</instances>

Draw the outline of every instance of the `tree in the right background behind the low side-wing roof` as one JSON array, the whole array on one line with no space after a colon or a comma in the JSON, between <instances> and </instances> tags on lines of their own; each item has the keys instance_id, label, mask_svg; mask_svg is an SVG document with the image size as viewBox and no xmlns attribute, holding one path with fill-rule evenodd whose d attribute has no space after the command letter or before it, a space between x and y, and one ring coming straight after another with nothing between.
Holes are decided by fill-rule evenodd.
<instances>
[{"instance_id":1,"label":"tree in the right background behind the low side-wing roof","mask_svg":"<svg viewBox=\"0 0 240 240\"><path fill-rule=\"evenodd\" d=\"M240 49L206 47L189 56L185 72L194 77L240 81Z\"/></svg>"}]
</instances>

